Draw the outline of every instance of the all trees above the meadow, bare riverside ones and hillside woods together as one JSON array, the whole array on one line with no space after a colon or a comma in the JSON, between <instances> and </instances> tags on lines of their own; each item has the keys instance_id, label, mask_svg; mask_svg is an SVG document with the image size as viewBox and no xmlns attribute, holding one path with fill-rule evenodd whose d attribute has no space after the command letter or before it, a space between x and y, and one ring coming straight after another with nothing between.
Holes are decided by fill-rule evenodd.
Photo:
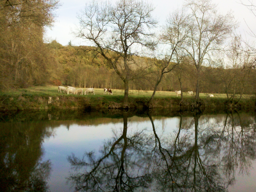
<instances>
[{"instance_id":1,"label":"all trees above the meadow, bare riverside ones and hillside woods together","mask_svg":"<svg viewBox=\"0 0 256 192\"><path fill-rule=\"evenodd\" d=\"M187 0L163 26L144 1L89 1L77 15L75 37L91 46L44 40L58 0L1 1L0 88L38 85L128 91L256 94L255 47L237 35L231 12L211 0ZM253 5L252 5L253 6Z\"/></svg>"}]
</instances>

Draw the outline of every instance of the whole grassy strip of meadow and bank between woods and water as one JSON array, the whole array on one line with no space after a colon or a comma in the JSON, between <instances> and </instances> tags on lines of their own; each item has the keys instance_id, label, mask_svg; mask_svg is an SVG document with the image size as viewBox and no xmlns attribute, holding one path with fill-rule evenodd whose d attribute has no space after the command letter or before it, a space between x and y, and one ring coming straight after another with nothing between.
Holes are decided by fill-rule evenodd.
<instances>
[{"instance_id":1,"label":"whole grassy strip of meadow and bank between woods and water","mask_svg":"<svg viewBox=\"0 0 256 192\"><path fill-rule=\"evenodd\" d=\"M84 89L85 90L85 89ZM58 87L30 87L27 89L13 89L0 93L0 110L47 110L47 109L108 109L118 107L123 100L123 90L113 89L113 95L103 95L103 89L94 89L95 95L67 95L58 92ZM153 91L129 92L130 108L143 108ZM194 96L184 94L183 102L175 92L157 91L152 107L155 108L207 108L216 110L229 106L225 94L214 94L214 98L207 97L208 93L200 94L199 105ZM255 98L244 96L235 106L241 109L254 109Z\"/></svg>"}]
</instances>

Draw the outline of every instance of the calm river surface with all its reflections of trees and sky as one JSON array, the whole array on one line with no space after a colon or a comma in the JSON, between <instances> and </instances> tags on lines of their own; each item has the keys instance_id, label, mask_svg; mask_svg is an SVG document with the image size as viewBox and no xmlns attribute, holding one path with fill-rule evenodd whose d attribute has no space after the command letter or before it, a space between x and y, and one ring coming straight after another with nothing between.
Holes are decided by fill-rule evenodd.
<instances>
[{"instance_id":1,"label":"calm river surface with all its reflections of trees and sky","mask_svg":"<svg viewBox=\"0 0 256 192\"><path fill-rule=\"evenodd\" d=\"M256 191L254 112L70 116L2 118L0 191Z\"/></svg>"}]
</instances>

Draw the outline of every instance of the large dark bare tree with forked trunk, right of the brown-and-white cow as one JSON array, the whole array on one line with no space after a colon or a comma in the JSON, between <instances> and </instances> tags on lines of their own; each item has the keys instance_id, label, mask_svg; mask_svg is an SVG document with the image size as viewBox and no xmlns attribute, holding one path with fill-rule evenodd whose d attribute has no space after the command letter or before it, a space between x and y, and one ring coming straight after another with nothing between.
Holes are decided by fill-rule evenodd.
<instances>
[{"instance_id":1,"label":"large dark bare tree with forked trunk, right of the brown-and-white cow","mask_svg":"<svg viewBox=\"0 0 256 192\"><path fill-rule=\"evenodd\" d=\"M141 77L147 69L135 57L153 46L149 41L153 36L150 29L157 24L151 15L153 10L152 4L141 0L119 0L115 4L91 1L78 15L80 26L74 34L91 42L93 50L112 65L123 81L123 108L128 107L130 80Z\"/></svg>"}]
</instances>

